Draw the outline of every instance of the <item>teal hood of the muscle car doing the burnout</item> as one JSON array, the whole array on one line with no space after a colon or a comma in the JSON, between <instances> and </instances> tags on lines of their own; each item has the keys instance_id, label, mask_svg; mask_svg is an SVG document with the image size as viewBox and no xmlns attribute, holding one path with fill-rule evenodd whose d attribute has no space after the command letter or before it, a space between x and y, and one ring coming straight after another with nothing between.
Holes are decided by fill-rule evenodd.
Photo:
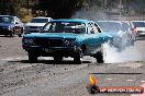
<instances>
[{"instance_id":1,"label":"teal hood of the muscle car doing the burnout","mask_svg":"<svg viewBox=\"0 0 145 96\"><path fill-rule=\"evenodd\" d=\"M23 37L77 38L78 36L78 34L72 33L32 33Z\"/></svg>"}]
</instances>

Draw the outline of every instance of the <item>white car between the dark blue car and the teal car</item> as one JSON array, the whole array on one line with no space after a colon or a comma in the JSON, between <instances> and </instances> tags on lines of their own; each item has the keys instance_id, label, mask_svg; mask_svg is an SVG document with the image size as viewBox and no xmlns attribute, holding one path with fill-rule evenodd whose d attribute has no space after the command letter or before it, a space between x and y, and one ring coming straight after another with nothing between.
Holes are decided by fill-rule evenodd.
<instances>
[{"instance_id":1,"label":"white car between the dark blue car and the teal car","mask_svg":"<svg viewBox=\"0 0 145 96\"><path fill-rule=\"evenodd\" d=\"M25 24L24 34L38 33L41 28L52 20L52 17L33 17L31 22Z\"/></svg>"}]
</instances>

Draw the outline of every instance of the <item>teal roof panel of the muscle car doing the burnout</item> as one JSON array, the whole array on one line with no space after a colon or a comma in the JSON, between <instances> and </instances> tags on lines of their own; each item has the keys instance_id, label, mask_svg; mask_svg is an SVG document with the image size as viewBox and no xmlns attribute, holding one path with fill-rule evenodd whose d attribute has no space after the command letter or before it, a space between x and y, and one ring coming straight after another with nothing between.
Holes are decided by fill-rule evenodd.
<instances>
[{"instance_id":1,"label":"teal roof panel of the muscle car doing the burnout","mask_svg":"<svg viewBox=\"0 0 145 96\"><path fill-rule=\"evenodd\" d=\"M92 21L82 20L82 19L60 19L60 20L53 20L52 22L81 22L81 23L89 23Z\"/></svg>"}]
</instances>

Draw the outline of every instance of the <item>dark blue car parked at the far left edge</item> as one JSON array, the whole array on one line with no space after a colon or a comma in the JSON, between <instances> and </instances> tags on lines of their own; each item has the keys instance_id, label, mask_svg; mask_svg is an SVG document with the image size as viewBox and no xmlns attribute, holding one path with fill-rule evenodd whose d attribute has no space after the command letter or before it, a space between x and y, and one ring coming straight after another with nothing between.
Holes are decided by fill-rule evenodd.
<instances>
[{"instance_id":1,"label":"dark blue car parked at the far left edge","mask_svg":"<svg viewBox=\"0 0 145 96\"><path fill-rule=\"evenodd\" d=\"M0 35L9 35L11 37L16 34L23 34L23 23L19 17L12 15L0 15Z\"/></svg>"}]
</instances>

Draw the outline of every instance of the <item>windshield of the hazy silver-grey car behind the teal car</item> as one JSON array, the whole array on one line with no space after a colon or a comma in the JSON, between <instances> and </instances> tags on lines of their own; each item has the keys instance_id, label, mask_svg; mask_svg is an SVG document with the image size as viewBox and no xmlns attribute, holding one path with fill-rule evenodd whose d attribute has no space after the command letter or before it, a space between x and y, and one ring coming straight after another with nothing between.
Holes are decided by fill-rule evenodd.
<instances>
[{"instance_id":1,"label":"windshield of the hazy silver-grey car behind the teal car","mask_svg":"<svg viewBox=\"0 0 145 96\"><path fill-rule=\"evenodd\" d=\"M126 23L118 22L98 22L102 31L127 31L129 25ZM127 25L127 26L126 26Z\"/></svg>"}]
</instances>

